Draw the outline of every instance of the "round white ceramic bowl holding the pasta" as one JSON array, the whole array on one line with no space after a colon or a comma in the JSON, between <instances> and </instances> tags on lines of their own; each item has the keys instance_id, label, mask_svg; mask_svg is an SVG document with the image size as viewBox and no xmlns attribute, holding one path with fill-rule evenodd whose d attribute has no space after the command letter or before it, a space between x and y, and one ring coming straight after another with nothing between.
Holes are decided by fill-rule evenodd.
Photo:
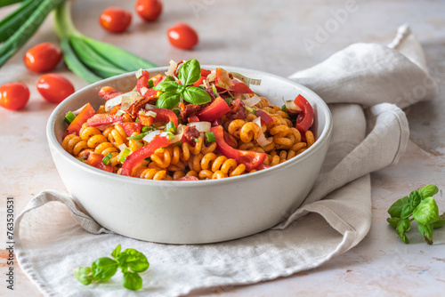
<instances>
[{"instance_id":1,"label":"round white ceramic bowl holding the pasta","mask_svg":"<svg viewBox=\"0 0 445 297\"><path fill-rule=\"evenodd\" d=\"M315 113L315 144L280 165L222 180L150 181L107 173L85 165L61 148L64 116L87 102L97 109L103 103L98 95L101 86L130 91L136 78L129 73L91 84L54 109L46 132L54 163L69 193L101 226L126 237L158 243L212 243L269 229L302 204L328 150L332 131L328 106L315 92L285 78L245 68L223 68L261 79L262 84L252 85L252 89L279 106L283 97L293 100L303 94ZM152 76L164 74L166 67L149 71Z\"/></svg>"}]
</instances>

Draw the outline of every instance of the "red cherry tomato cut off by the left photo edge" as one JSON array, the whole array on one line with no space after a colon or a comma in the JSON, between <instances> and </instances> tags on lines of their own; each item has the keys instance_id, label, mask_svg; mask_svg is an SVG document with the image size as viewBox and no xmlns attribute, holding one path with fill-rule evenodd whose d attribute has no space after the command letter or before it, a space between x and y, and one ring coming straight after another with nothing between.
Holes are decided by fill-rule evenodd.
<instances>
[{"instance_id":1,"label":"red cherry tomato cut off by the left photo edge","mask_svg":"<svg viewBox=\"0 0 445 297\"><path fill-rule=\"evenodd\" d=\"M26 84L9 83L0 86L0 106L11 110L24 108L29 100Z\"/></svg>"}]
</instances>

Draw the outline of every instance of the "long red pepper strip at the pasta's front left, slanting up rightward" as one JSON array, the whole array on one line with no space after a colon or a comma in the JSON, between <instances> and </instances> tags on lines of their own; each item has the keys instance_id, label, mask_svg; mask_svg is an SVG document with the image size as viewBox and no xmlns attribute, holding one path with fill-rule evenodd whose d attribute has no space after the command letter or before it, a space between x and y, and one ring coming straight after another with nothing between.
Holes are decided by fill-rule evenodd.
<instances>
[{"instance_id":1,"label":"long red pepper strip at the pasta's front left, slanting up rightward","mask_svg":"<svg viewBox=\"0 0 445 297\"><path fill-rule=\"evenodd\" d=\"M125 162L122 165L121 174L132 176L134 167L140 164L143 159L153 155L158 148L165 148L170 144L172 144L172 141L168 140L166 137L156 137L145 147L136 149L132 154L126 157Z\"/></svg>"}]
</instances>

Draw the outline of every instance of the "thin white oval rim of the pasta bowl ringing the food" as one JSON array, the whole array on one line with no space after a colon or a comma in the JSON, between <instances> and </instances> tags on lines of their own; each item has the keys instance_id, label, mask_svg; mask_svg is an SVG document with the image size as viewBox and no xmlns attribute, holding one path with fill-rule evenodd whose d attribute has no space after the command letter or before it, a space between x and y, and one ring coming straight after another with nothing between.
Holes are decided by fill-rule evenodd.
<instances>
[{"instance_id":1,"label":"thin white oval rim of the pasta bowl ringing the food","mask_svg":"<svg viewBox=\"0 0 445 297\"><path fill-rule=\"evenodd\" d=\"M56 124L56 118L60 115L61 109L65 107L65 105L69 104L71 100L74 100L74 98L77 97L78 93L85 92L93 87L96 86L103 86L107 85L109 82L114 82L115 80L126 78L127 76L135 76L137 71L127 72L125 74L119 75L119 76L112 76L106 79L103 79L101 81L98 81L93 84L88 84L85 87L81 88L80 90L77 90L77 92L74 92L73 94L69 95L69 97L53 109L53 112L48 117L48 121L46 124L46 137L48 140L48 143L50 144L50 148L53 147L57 150L58 153L61 153L61 156L66 158L69 161L70 165L74 165L77 167L80 167L83 170L87 170L90 173L93 173L93 175L98 175L101 177L107 177L109 178L109 181L116 181L116 182L126 182L130 184L137 184L140 186L146 185L146 186L160 186L160 187L184 187L184 188L194 188L194 187L202 187L202 186L212 186L214 183L218 183L219 185L222 185L224 183L231 183L233 181L239 181L239 180L248 180L248 179L255 179L259 174L269 174L271 171L278 171L278 170L285 170L289 166L293 166L295 163L302 162L304 159L311 157L313 154L315 154L316 151L318 151L322 145L329 141L330 135L333 129L333 123L332 123L332 114L330 112L330 109L328 108L328 104L320 98L320 96L313 92L308 87L304 86L303 84L298 84L287 77L283 76L277 76L268 72L252 69L252 68L239 68L239 67L232 67L232 66L224 66L224 65L201 65L201 68L224 68L230 71L237 71L239 73L243 73L248 71L252 72L255 71L258 74L261 74L263 76L270 76L275 79L284 80L288 84L294 84L298 88L300 88L303 92L310 94L310 101L314 100L317 105L317 112L323 112L325 115L325 125L323 127L323 130L319 136L319 138L315 141L315 143L312 145L311 148L308 148L307 150L303 151L300 155L291 158L290 160L287 160L286 162L283 162L279 165L274 165L270 168L265 168L263 170L257 171L255 173L248 173L248 174L242 174L239 176L232 176L230 179L218 179L218 180L199 180L199 181L193 181L193 182L178 182L178 181L152 181L152 180L146 180L146 179L138 179L130 176L123 176L119 175L117 173L108 173L103 170L100 170L98 168L95 168L91 165L86 165L85 163L77 160L76 157L71 156L65 149L61 147L61 143L56 139L54 127ZM157 67L157 68L148 68L148 71L162 71L168 69L168 66L163 67ZM295 95L296 97L296 95ZM50 150L53 152L53 148Z\"/></svg>"}]
</instances>

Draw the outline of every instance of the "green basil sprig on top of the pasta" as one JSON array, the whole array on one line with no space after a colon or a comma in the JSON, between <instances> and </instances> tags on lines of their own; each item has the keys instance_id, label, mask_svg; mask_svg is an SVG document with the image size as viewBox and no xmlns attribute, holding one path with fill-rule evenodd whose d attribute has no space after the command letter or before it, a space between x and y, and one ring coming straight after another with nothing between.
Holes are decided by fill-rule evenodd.
<instances>
[{"instance_id":1,"label":"green basil sprig on top of the pasta","mask_svg":"<svg viewBox=\"0 0 445 297\"><path fill-rule=\"evenodd\" d=\"M153 87L156 91L164 92L157 100L157 108L174 108L181 97L191 104L205 104L212 100L203 88L193 86L201 77L201 66L198 60L191 59L179 68L178 78L182 84L174 81L164 81Z\"/></svg>"}]
</instances>

